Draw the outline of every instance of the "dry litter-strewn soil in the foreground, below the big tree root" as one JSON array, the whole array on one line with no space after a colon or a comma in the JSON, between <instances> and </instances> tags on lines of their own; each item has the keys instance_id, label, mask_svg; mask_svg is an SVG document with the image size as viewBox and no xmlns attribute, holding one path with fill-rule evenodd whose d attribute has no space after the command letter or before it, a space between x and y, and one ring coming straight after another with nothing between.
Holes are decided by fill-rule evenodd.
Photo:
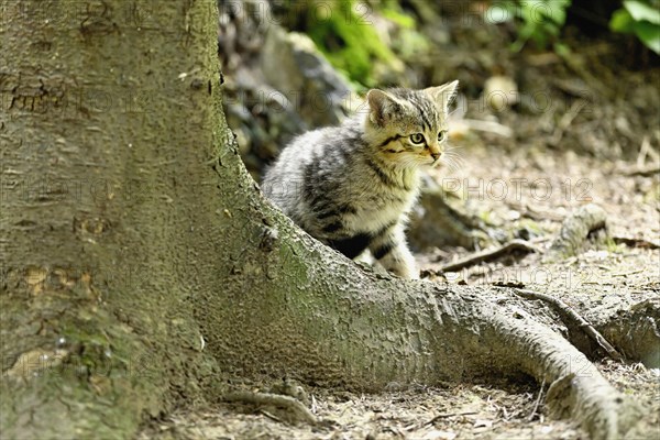
<instances>
[{"instance_id":1,"label":"dry litter-strewn soil in the foreground, below the big tree root","mask_svg":"<svg viewBox=\"0 0 660 440\"><path fill-rule=\"evenodd\" d=\"M649 411L627 438L658 438L659 371L614 362L601 364L600 370L618 391L635 395ZM572 422L544 416L543 394L539 396L543 392L530 383L413 385L377 395L314 389L311 410L320 420L316 426L287 422L287 415L273 407L219 405L174 413L152 422L139 439L587 439Z\"/></svg>"}]
</instances>

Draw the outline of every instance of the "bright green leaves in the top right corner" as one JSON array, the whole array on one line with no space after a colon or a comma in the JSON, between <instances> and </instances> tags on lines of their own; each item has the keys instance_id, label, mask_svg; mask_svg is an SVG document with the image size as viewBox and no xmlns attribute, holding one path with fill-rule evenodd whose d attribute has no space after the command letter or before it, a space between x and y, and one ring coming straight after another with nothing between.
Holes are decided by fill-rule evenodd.
<instances>
[{"instance_id":1,"label":"bright green leaves in the top right corner","mask_svg":"<svg viewBox=\"0 0 660 440\"><path fill-rule=\"evenodd\" d=\"M609 21L614 32L634 33L660 55L660 0L626 0Z\"/></svg>"}]
</instances>

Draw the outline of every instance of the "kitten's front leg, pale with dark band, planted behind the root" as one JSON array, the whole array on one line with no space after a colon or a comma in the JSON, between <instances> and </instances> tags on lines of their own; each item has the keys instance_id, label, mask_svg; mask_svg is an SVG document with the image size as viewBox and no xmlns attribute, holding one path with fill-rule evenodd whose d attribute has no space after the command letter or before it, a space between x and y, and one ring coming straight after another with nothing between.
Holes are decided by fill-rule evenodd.
<instances>
[{"instance_id":1,"label":"kitten's front leg, pale with dark band, planted behind the root","mask_svg":"<svg viewBox=\"0 0 660 440\"><path fill-rule=\"evenodd\" d=\"M419 279L419 270L406 244L406 234L402 224L396 224L376 237L369 250L388 272L404 278Z\"/></svg>"}]
</instances>

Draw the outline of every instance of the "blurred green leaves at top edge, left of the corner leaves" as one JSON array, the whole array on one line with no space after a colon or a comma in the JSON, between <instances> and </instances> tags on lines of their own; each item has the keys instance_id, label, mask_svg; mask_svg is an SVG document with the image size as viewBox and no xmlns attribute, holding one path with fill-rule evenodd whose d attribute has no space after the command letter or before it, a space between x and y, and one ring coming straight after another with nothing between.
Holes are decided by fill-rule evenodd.
<instances>
[{"instance_id":1,"label":"blurred green leaves at top edge, left of the corner leaves","mask_svg":"<svg viewBox=\"0 0 660 440\"><path fill-rule=\"evenodd\" d=\"M570 6L571 0L496 1L486 11L486 21L518 23L518 38L512 45L515 52L520 51L530 40L538 47L547 47L549 43L557 43Z\"/></svg>"}]
</instances>

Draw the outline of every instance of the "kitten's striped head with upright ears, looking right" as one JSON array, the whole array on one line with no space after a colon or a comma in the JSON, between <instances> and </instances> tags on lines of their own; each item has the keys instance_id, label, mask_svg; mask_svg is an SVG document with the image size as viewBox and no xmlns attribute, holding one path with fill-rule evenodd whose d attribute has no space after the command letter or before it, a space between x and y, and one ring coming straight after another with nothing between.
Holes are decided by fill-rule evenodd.
<instances>
[{"instance_id":1,"label":"kitten's striped head with upright ears, looking right","mask_svg":"<svg viewBox=\"0 0 660 440\"><path fill-rule=\"evenodd\" d=\"M377 153L405 167L438 165L448 136L448 108L459 81L422 90L372 89L365 134Z\"/></svg>"}]
</instances>

